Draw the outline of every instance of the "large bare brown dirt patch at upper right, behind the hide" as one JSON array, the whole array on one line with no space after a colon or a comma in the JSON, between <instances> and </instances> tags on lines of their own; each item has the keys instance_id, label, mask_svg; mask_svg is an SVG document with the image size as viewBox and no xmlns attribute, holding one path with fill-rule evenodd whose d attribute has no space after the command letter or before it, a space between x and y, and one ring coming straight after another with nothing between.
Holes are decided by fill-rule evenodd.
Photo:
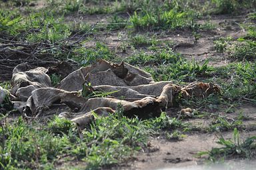
<instances>
[{"instance_id":1,"label":"large bare brown dirt patch at upper right, behind the hide","mask_svg":"<svg viewBox=\"0 0 256 170\"><path fill-rule=\"evenodd\" d=\"M216 28L212 31L199 31L197 33L197 36L199 36L197 41L195 41L195 36L191 31L171 33L171 35L167 35L162 40L175 42L174 49L189 60L195 59L195 61L204 62L208 59L209 65L215 67L227 65L230 63L227 54L217 53L213 41L224 37L236 39L246 35L246 32L239 26L239 24L245 22L245 17L245 15L237 17L227 15L213 16L210 21ZM203 24L209 21L203 19L197 22Z\"/></svg>"}]
</instances>

